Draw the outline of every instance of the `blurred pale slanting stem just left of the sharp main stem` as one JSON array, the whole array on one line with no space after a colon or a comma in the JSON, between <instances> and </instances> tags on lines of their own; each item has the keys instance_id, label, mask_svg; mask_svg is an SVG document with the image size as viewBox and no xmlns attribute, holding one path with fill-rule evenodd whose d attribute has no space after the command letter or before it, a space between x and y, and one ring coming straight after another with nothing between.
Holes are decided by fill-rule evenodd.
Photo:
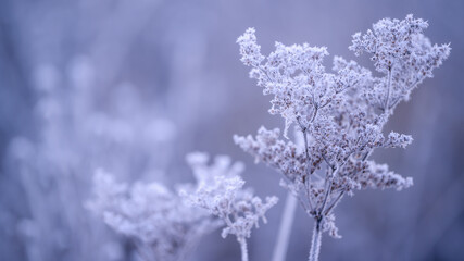
<instances>
[{"instance_id":1,"label":"blurred pale slanting stem just left of the sharp main stem","mask_svg":"<svg viewBox=\"0 0 464 261\"><path fill-rule=\"evenodd\" d=\"M297 209L297 198L290 192L287 192L285 209L280 221L277 243L274 248L273 261L284 261L287 253L288 241L293 224L294 210Z\"/></svg>"}]
</instances>

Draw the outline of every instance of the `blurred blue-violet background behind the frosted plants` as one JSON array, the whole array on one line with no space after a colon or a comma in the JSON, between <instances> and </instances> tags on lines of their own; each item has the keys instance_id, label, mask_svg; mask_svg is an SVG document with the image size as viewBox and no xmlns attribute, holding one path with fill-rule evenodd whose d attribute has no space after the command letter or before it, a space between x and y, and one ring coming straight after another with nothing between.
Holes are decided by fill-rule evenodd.
<instances>
[{"instance_id":1,"label":"blurred blue-violet background behind the frosted plants","mask_svg":"<svg viewBox=\"0 0 464 261\"><path fill-rule=\"evenodd\" d=\"M284 122L248 78L237 37L255 27L263 53L278 40L355 59L353 33L409 13L429 22L431 42L452 47L386 129L411 134L413 145L374 154L414 186L344 198L336 210L343 238L325 235L321 257L464 260L461 0L0 1L0 259L130 260L125 239L84 208L93 170L173 185L192 181L185 154L199 150L243 161L247 184L280 198L249 240L251 260L271 260L286 191L231 136ZM287 260L306 259L311 231L298 209ZM215 232L190 260L239 257L237 241Z\"/></svg>"}]
</instances>

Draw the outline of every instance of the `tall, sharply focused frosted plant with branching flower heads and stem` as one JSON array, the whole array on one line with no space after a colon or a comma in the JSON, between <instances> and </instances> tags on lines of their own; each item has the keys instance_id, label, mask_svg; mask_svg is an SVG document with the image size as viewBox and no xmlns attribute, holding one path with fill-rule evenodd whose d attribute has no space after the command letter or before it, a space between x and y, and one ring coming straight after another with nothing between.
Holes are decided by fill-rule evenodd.
<instances>
[{"instance_id":1,"label":"tall, sharply focused frosted plant with branching flower heads and stem","mask_svg":"<svg viewBox=\"0 0 464 261\"><path fill-rule=\"evenodd\" d=\"M288 139L294 124L294 138L302 145L281 140L279 129L264 127L255 137L234 139L256 161L279 171L285 177L281 185L314 219L310 260L318 259L323 232L340 237L333 211L344 195L365 188L401 190L413 184L411 177L368 157L376 148L405 148L412 142L409 135L384 136L383 128L394 107L432 77L432 70L450 53L449 45L431 45L423 35L427 26L407 15L402 21L380 20L373 30L353 35L350 50L356 55L369 53L380 76L339 57L334 58L334 73L326 72L325 47L276 42L276 50L264 57L253 28L238 38L241 61L251 66L250 77L264 95L273 96L269 113L285 120L284 137Z\"/></svg>"}]
</instances>

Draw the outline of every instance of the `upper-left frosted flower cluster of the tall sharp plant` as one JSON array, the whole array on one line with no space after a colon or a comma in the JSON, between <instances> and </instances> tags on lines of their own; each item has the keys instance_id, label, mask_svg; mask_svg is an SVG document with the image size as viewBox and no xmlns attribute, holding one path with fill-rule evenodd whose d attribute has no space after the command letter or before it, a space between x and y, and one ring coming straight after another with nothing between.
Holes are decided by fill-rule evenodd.
<instances>
[{"instance_id":1,"label":"upper-left frosted flower cluster of the tall sharp plant","mask_svg":"<svg viewBox=\"0 0 464 261\"><path fill-rule=\"evenodd\" d=\"M240 45L241 61L249 66L250 77L258 79L264 95L273 95L271 114L280 114L286 120L284 135L298 120L311 121L313 107L325 107L335 95L334 78L324 75L322 65L328 55L325 47L293 45L286 47L276 42L276 50L267 57L260 53L254 29L248 29L237 40Z\"/></svg>"}]
</instances>

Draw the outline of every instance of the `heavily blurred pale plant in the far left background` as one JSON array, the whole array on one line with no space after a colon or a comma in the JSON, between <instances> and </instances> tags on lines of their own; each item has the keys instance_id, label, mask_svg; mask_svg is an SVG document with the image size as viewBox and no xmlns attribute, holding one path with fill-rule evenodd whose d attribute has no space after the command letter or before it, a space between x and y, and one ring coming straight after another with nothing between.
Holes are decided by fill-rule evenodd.
<instances>
[{"instance_id":1,"label":"heavily blurred pale plant in the far left background","mask_svg":"<svg viewBox=\"0 0 464 261\"><path fill-rule=\"evenodd\" d=\"M73 85L60 88L58 72L39 67L37 140L17 137L12 142L32 208L20 226L30 260L121 259L124 247L85 214L83 202L91 186L86 173L105 167L124 178L133 172L140 173L139 178L162 178L168 161L174 125L154 117L151 105L129 86L112 90L114 103L101 102L99 89L92 88L93 73L91 64L78 59L68 75ZM163 154L155 153L160 149ZM96 250L97 243L110 247Z\"/></svg>"}]
</instances>

